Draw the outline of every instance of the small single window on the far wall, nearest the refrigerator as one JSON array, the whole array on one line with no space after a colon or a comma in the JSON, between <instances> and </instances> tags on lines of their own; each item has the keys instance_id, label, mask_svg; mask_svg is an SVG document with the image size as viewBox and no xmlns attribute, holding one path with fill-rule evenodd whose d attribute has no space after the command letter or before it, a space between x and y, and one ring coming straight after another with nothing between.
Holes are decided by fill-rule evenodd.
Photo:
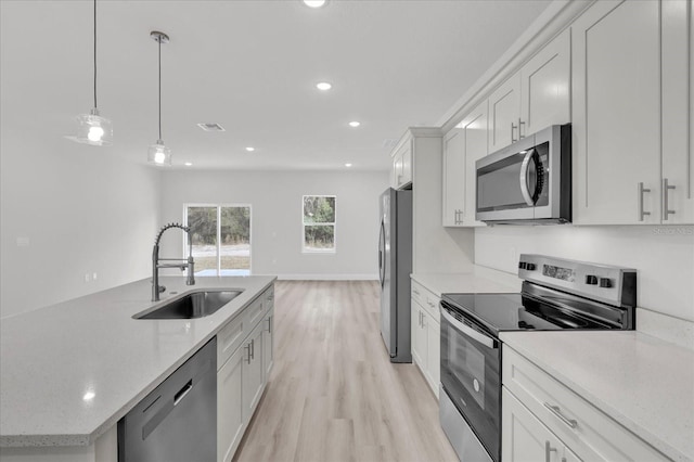
<instances>
[{"instance_id":1,"label":"small single window on the far wall, nearest the refrigerator","mask_svg":"<svg viewBox=\"0 0 694 462\"><path fill-rule=\"evenodd\" d=\"M335 196L305 195L303 251L335 253Z\"/></svg>"}]
</instances>

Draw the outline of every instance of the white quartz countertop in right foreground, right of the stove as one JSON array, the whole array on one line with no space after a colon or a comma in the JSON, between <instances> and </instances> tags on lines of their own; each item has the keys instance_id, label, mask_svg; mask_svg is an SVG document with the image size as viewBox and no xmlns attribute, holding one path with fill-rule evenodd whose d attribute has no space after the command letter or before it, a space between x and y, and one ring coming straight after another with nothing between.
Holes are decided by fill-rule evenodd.
<instances>
[{"instance_id":1,"label":"white quartz countertop in right foreground, right of the stove","mask_svg":"<svg viewBox=\"0 0 694 462\"><path fill-rule=\"evenodd\" d=\"M500 336L667 457L694 460L694 350L638 331Z\"/></svg>"}]
</instances>

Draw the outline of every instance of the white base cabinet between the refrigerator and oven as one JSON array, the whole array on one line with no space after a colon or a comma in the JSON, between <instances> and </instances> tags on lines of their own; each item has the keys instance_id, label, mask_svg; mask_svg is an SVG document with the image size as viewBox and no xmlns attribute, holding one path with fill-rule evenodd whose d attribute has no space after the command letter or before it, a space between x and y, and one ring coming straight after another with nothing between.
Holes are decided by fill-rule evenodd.
<instances>
[{"instance_id":1,"label":"white base cabinet between the refrigerator and oven","mask_svg":"<svg viewBox=\"0 0 694 462\"><path fill-rule=\"evenodd\" d=\"M412 281L412 360L438 398L440 382L440 315L439 298L417 282Z\"/></svg>"}]
</instances>

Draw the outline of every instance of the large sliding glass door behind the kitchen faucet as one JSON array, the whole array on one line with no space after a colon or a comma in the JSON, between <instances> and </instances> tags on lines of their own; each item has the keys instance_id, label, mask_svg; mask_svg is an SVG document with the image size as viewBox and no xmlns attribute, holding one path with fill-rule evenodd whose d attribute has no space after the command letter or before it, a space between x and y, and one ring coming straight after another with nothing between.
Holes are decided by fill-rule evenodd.
<instances>
[{"instance_id":1,"label":"large sliding glass door behind the kitchen faucet","mask_svg":"<svg viewBox=\"0 0 694 462\"><path fill-rule=\"evenodd\" d=\"M195 275L250 274L250 206L188 205ZM187 238L185 238L187 239ZM188 254L188 241L183 246Z\"/></svg>"}]
</instances>

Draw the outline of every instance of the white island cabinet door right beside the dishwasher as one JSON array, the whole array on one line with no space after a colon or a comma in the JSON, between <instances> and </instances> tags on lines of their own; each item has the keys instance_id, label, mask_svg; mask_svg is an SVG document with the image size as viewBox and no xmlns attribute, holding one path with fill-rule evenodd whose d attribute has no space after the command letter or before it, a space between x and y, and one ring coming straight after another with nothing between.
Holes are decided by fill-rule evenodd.
<instances>
[{"instance_id":1,"label":"white island cabinet door right beside the dishwasher","mask_svg":"<svg viewBox=\"0 0 694 462\"><path fill-rule=\"evenodd\" d=\"M236 351L217 372L217 460L229 462L244 431L242 410L242 361L244 349Z\"/></svg>"}]
</instances>

